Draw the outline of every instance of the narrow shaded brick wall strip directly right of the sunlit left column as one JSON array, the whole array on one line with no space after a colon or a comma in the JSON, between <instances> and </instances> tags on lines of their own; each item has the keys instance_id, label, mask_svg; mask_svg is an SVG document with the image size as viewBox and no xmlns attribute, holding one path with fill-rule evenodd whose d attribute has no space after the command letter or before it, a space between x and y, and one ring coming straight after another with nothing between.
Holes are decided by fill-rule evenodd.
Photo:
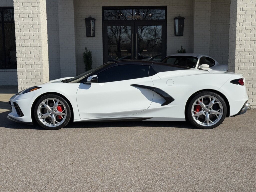
<instances>
[{"instance_id":1,"label":"narrow shaded brick wall strip directly right of the sunlit left column","mask_svg":"<svg viewBox=\"0 0 256 192\"><path fill-rule=\"evenodd\" d=\"M60 41L58 1L46 0L49 78L59 79L60 76Z\"/></svg>"}]
</instances>

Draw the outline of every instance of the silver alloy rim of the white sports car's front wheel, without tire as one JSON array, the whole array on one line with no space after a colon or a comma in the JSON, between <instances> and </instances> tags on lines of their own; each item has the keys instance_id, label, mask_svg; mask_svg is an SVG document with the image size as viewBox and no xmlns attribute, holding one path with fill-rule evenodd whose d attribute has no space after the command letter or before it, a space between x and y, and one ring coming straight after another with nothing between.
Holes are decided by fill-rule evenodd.
<instances>
[{"instance_id":1,"label":"silver alloy rim of the white sports car's front wheel, without tire","mask_svg":"<svg viewBox=\"0 0 256 192\"><path fill-rule=\"evenodd\" d=\"M37 116L42 124L48 127L57 127L65 121L67 109L59 99L48 98L39 104Z\"/></svg>"}]
</instances>

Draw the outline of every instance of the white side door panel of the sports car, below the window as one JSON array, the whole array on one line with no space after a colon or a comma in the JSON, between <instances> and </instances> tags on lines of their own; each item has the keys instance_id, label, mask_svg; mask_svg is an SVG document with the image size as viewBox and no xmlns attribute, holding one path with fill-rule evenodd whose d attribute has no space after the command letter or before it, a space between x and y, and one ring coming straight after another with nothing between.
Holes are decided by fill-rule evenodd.
<instances>
[{"instance_id":1,"label":"white side door panel of the sports car, below the window","mask_svg":"<svg viewBox=\"0 0 256 192\"><path fill-rule=\"evenodd\" d=\"M77 102L81 103L78 105L81 119L133 115L147 109L154 92L131 84L153 86L151 77L80 84ZM100 106L100 110L95 106Z\"/></svg>"}]
</instances>

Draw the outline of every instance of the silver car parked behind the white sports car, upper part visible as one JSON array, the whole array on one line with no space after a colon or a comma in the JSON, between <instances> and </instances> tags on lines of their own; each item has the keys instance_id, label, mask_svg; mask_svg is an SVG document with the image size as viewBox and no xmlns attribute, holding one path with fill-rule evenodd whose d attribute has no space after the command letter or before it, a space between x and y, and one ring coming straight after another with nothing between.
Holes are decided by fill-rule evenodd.
<instances>
[{"instance_id":1,"label":"silver car parked behind the white sports car, upper part visible","mask_svg":"<svg viewBox=\"0 0 256 192\"><path fill-rule=\"evenodd\" d=\"M207 55L198 55L196 53L178 53L169 55L163 58L161 62L196 69L202 68L228 71L228 65L220 64L215 59Z\"/></svg>"}]
</instances>

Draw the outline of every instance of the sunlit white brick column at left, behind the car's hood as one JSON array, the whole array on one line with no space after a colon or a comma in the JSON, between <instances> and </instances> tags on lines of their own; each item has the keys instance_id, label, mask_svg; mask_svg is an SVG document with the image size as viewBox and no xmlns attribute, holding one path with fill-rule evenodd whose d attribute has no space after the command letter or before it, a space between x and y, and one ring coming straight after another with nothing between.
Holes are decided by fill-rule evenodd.
<instances>
[{"instance_id":1,"label":"sunlit white brick column at left, behind the car's hood","mask_svg":"<svg viewBox=\"0 0 256 192\"><path fill-rule=\"evenodd\" d=\"M49 81L45 0L14 0L18 90Z\"/></svg>"}]
</instances>

